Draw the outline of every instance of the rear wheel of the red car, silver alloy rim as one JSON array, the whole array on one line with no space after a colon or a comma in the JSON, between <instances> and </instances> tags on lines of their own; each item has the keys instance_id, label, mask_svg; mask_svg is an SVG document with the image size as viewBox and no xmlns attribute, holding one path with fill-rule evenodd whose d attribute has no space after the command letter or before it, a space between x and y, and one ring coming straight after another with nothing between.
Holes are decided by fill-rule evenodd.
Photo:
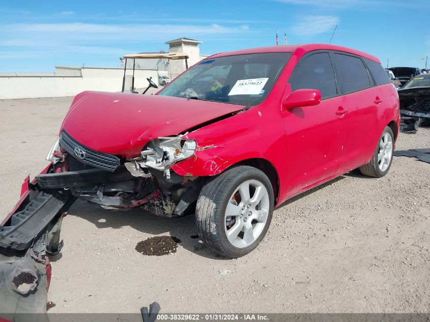
<instances>
[{"instance_id":1,"label":"rear wheel of the red car, silver alloy rim","mask_svg":"<svg viewBox=\"0 0 430 322\"><path fill-rule=\"evenodd\" d=\"M375 153L369 163L360 167L360 172L368 177L381 178L387 174L393 161L394 135L387 126L378 141ZM381 158L381 159L379 159Z\"/></svg>"}]
</instances>

